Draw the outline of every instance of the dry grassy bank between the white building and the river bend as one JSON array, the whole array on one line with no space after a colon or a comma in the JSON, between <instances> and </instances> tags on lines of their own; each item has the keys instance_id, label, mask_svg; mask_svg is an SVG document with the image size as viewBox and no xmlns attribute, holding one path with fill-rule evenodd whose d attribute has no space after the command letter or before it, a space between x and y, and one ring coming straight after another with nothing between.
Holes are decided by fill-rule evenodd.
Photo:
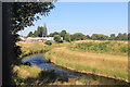
<instances>
[{"instance_id":1,"label":"dry grassy bank between the white building and the river bend","mask_svg":"<svg viewBox=\"0 0 130 87\"><path fill-rule=\"evenodd\" d=\"M51 46L46 45L44 42L17 42L17 46L22 49L21 58L35 54L35 53L44 53L53 48L65 47L70 45L69 42L56 44L53 42Z\"/></svg>"}]
</instances>

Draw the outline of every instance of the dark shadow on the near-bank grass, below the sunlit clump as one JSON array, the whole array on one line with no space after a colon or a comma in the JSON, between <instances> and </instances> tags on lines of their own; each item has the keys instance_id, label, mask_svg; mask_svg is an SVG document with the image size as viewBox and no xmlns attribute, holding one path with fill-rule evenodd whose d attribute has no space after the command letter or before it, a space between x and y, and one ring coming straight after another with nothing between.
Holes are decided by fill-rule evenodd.
<instances>
[{"instance_id":1,"label":"dark shadow on the near-bank grass, below the sunlit clump","mask_svg":"<svg viewBox=\"0 0 130 87\"><path fill-rule=\"evenodd\" d=\"M13 74L15 85L17 86L40 86L40 85L53 85L54 83L68 82L65 76L60 76L54 71L41 71L37 77L21 78L17 73Z\"/></svg>"}]
</instances>

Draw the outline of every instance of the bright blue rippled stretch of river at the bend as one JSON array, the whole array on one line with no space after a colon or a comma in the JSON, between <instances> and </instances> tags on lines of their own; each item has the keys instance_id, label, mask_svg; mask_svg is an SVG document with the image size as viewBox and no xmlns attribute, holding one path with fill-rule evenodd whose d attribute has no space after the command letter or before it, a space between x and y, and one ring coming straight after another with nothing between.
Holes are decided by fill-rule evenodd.
<instances>
[{"instance_id":1,"label":"bright blue rippled stretch of river at the bend","mask_svg":"<svg viewBox=\"0 0 130 87\"><path fill-rule=\"evenodd\" d=\"M77 76L75 73L58 69L54 66L53 64L49 63L48 61L46 61L43 55L24 58L23 63L26 63L26 62L30 62L31 66L36 65L40 69L52 70L62 76L67 76L68 78L79 79L79 76Z\"/></svg>"}]
</instances>

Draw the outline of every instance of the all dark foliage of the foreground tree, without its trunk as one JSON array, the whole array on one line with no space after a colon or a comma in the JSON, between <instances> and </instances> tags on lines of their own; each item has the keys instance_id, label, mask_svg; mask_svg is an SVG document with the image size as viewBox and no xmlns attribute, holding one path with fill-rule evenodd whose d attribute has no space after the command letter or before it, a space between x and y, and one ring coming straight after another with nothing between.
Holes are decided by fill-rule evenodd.
<instances>
[{"instance_id":1,"label":"all dark foliage of the foreground tree, without its trunk","mask_svg":"<svg viewBox=\"0 0 130 87\"><path fill-rule=\"evenodd\" d=\"M10 16L9 20L11 21L11 24L8 24L10 26L6 28L10 44L9 57L14 58L16 61L18 54L21 54L21 48L15 45L18 41L17 32L23 30L27 26L32 26L35 21L40 20L38 14L47 16L54 5L52 2L12 2L4 3L3 7L8 7L6 17ZM9 20L5 22L9 23Z\"/></svg>"}]
</instances>

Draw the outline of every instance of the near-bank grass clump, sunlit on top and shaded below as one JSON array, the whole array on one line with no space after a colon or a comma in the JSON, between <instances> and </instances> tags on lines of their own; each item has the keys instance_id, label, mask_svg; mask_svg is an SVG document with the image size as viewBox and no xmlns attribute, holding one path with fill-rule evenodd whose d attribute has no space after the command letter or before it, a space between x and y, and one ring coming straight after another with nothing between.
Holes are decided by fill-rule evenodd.
<instances>
[{"instance_id":1,"label":"near-bank grass clump, sunlit on top and shaded below","mask_svg":"<svg viewBox=\"0 0 130 87\"><path fill-rule=\"evenodd\" d=\"M20 65L13 67L13 78L18 86L44 86L49 84L67 82L68 78L61 76L54 71L41 70L37 66Z\"/></svg>"}]
</instances>

